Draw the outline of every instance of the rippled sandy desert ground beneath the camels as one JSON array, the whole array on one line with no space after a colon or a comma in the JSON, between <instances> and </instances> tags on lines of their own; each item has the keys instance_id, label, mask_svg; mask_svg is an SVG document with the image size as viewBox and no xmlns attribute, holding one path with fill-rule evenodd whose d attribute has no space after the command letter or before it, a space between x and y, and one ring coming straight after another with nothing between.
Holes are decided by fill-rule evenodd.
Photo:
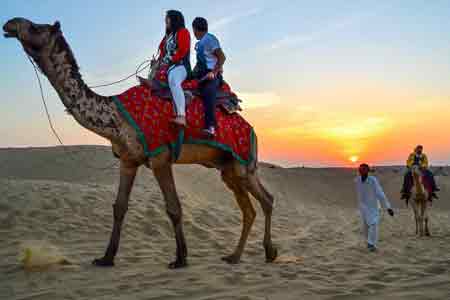
<instances>
[{"instance_id":1,"label":"rippled sandy desert ground beneath the camels","mask_svg":"<svg viewBox=\"0 0 450 300\"><path fill-rule=\"evenodd\" d=\"M450 170L437 180L431 238L414 235L412 211L398 200L402 169L376 175L396 207L383 215L380 251L360 235L354 170L285 169L262 164L276 197L274 242L266 264L258 216L240 265L227 265L240 234L240 212L214 170L177 166L190 266L168 270L175 242L151 172L142 169L131 195L114 268L91 266L112 225L116 169L106 147L0 150L0 299L449 299ZM23 243L56 247L72 265L27 271Z\"/></svg>"}]
</instances>

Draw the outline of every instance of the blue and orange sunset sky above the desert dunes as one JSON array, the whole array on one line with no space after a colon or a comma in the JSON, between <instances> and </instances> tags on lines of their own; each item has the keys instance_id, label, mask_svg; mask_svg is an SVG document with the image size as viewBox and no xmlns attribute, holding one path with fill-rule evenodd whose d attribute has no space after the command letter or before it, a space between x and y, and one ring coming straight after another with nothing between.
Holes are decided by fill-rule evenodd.
<instances>
[{"instance_id":1,"label":"blue and orange sunset sky above the desert dunes","mask_svg":"<svg viewBox=\"0 0 450 300\"><path fill-rule=\"evenodd\" d=\"M196 16L209 20L227 56L224 77L244 101L262 160L403 164L421 143L433 164L450 164L448 0L6 0L0 22L61 21L83 78L100 84L134 72L155 52L168 9L181 10L189 29ZM0 147L56 145L16 41L1 40L0 61ZM47 82L44 88L65 143L106 143L64 113Z\"/></svg>"}]
</instances>

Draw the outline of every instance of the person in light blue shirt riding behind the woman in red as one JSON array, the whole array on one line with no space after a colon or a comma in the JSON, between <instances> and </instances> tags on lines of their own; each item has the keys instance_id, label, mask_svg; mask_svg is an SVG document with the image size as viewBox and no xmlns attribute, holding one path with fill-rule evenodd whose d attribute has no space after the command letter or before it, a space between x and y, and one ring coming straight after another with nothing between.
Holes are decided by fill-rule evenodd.
<instances>
[{"instance_id":1,"label":"person in light blue shirt riding behind the woman in red","mask_svg":"<svg viewBox=\"0 0 450 300\"><path fill-rule=\"evenodd\" d=\"M192 22L192 29L198 42L195 45L197 63L193 70L193 77L201 80L200 93L205 107L204 132L209 137L216 133L216 99L217 91L222 84L222 67L225 63L219 40L208 32L208 21L197 17Z\"/></svg>"}]
</instances>

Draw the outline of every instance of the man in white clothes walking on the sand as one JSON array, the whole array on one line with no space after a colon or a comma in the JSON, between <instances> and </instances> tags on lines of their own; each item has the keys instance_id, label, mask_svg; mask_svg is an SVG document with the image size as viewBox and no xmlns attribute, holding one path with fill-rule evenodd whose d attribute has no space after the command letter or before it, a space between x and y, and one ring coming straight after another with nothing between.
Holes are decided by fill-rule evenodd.
<instances>
[{"instance_id":1,"label":"man in white clothes walking on the sand","mask_svg":"<svg viewBox=\"0 0 450 300\"><path fill-rule=\"evenodd\" d=\"M380 222L379 203L391 217L394 211L381 188L377 178L369 175L368 164L359 166L359 176L355 178L356 192L359 201L359 211L363 225L364 235L367 237L367 248L370 252L377 250L378 224Z\"/></svg>"}]
</instances>

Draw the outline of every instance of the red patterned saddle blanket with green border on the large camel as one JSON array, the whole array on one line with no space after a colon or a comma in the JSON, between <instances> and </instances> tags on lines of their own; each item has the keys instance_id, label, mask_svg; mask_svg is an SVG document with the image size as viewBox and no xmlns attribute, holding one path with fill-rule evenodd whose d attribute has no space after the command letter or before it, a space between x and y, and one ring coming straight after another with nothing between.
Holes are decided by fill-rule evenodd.
<instances>
[{"instance_id":1,"label":"red patterned saddle blanket with green border on the large camel","mask_svg":"<svg viewBox=\"0 0 450 300\"><path fill-rule=\"evenodd\" d=\"M216 109L216 136L214 139L204 137L203 102L198 96L186 107L187 126L184 130L174 128L170 122L175 117L172 102L154 95L144 85L132 87L114 96L113 100L136 130L149 157L170 150L176 160L183 144L203 144L229 152L241 164L248 165L254 160L253 128L237 113L228 114Z\"/></svg>"}]
</instances>

